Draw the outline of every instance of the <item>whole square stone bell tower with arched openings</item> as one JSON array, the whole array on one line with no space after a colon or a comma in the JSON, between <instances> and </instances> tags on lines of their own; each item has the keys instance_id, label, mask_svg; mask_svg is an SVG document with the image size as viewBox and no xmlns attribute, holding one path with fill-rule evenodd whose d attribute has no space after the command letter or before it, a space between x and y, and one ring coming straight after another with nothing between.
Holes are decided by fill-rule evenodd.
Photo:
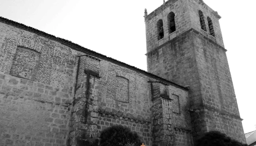
<instances>
[{"instance_id":1,"label":"whole square stone bell tower with arched openings","mask_svg":"<svg viewBox=\"0 0 256 146\"><path fill-rule=\"evenodd\" d=\"M145 10L147 70L189 88L193 139L217 130L245 143L219 19L202 0Z\"/></svg>"}]
</instances>

